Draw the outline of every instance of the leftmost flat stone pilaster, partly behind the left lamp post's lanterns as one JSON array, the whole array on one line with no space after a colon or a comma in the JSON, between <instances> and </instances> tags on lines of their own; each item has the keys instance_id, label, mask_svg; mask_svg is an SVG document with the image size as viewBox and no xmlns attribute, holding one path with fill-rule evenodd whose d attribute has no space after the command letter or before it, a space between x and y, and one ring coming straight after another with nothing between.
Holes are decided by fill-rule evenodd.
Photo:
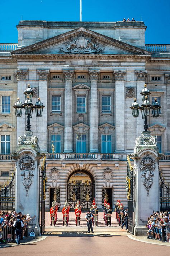
<instances>
[{"instance_id":1,"label":"leftmost flat stone pilaster, partly behind the left lamp post's lanterns","mask_svg":"<svg viewBox=\"0 0 170 256\"><path fill-rule=\"evenodd\" d=\"M26 76L28 75L28 70L16 70L15 71L15 76L18 81L17 85L17 97L20 98L20 101L24 103L25 101L25 95L23 92L25 91L26 88ZM23 134L25 131L25 111L23 109L22 116L17 118L17 130L16 130L16 135L17 138L19 135Z\"/></svg>"}]
</instances>

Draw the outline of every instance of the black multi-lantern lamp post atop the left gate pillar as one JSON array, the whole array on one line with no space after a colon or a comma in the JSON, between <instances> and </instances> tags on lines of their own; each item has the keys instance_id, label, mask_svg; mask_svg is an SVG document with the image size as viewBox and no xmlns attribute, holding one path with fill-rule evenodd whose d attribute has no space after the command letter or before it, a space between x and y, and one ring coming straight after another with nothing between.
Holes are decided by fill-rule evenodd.
<instances>
[{"instance_id":1,"label":"black multi-lantern lamp post atop the left gate pillar","mask_svg":"<svg viewBox=\"0 0 170 256\"><path fill-rule=\"evenodd\" d=\"M22 104L21 101L19 101L19 98L17 98L17 101L15 102L15 105L13 106L15 109L15 115L16 116L22 116L22 109L25 110L25 115L27 116L27 131L30 131L31 125L30 125L30 117L32 117L33 110L36 109L36 116L42 116L43 112L43 103L40 101L40 98L38 98L38 101L36 102L35 106L32 104L32 98L33 98L33 90L30 88L30 84L28 84L27 89L25 89L25 101L24 104Z\"/></svg>"}]
</instances>

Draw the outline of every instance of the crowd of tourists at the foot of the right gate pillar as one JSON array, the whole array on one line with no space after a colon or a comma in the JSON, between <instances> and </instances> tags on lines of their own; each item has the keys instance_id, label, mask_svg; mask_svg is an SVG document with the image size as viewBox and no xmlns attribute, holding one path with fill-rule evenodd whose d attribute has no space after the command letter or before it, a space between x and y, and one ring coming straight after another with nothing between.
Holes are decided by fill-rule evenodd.
<instances>
[{"instance_id":1,"label":"crowd of tourists at the foot of the right gate pillar","mask_svg":"<svg viewBox=\"0 0 170 256\"><path fill-rule=\"evenodd\" d=\"M148 239L170 242L170 212L153 212L153 214L148 217L146 228L148 228Z\"/></svg>"}]
</instances>

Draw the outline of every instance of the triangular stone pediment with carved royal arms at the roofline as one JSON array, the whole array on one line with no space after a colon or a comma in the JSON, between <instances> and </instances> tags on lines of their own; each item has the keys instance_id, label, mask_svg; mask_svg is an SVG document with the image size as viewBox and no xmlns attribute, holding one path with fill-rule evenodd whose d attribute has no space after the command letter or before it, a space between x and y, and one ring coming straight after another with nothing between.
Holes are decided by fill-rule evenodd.
<instances>
[{"instance_id":1,"label":"triangular stone pediment with carved royal arms at the roofline","mask_svg":"<svg viewBox=\"0 0 170 256\"><path fill-rule=\"evenodd\" d=\"M147 51L80 27L11 52L20 54L148 54Z\"/></svg>"}]
</instances>

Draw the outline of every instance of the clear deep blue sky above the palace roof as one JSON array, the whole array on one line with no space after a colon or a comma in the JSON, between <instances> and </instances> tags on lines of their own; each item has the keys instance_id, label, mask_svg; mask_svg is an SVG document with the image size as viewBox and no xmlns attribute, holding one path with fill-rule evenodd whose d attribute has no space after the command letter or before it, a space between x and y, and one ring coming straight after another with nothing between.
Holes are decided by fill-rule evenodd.
<instances>
[{"instance_id":1,"label":"clear deep blue sky above the palace roof","mask_svg":"<svg viewBox=\"0 0 170 256\"><path fill-rule=\"evenodd\" d=\"M1 1L0 43L17 43L23 20L79 21L80 0ZM170 0L82 0L82 21L121 21L134 17L147 26L148 44L170 44Z\"/></svg>"}]
</instances>

